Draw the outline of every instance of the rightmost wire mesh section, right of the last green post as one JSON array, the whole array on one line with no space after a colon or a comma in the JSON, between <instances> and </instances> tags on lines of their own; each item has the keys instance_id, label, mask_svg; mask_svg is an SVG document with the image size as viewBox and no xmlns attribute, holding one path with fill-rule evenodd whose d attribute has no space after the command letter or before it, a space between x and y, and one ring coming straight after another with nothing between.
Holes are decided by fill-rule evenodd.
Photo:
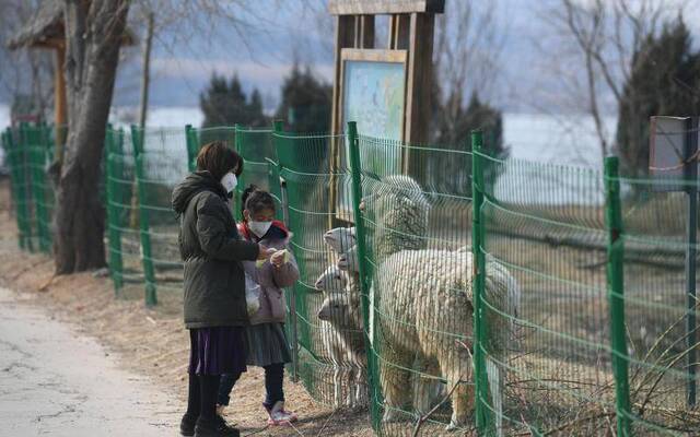
<instances>
[{"instance_id":1,"label":"rightmost wire mesh section, right of the last green post","mask_svg":"<svg viewBox=\"0 0 700 437\"><path fill-rule=\"evenodd\" d=\"M620 293L630 435L688 436L698 410L698 182L610 177L620 186ZM693 200L693 197L696 198Z\"/></svg>"}]
</instances>

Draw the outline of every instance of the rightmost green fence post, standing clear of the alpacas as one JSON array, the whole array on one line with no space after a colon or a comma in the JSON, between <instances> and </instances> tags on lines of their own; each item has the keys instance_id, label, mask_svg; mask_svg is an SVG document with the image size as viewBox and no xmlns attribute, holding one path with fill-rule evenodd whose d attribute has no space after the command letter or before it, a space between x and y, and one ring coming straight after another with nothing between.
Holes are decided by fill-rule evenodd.
<instances>
[{"instance_id":1,"label":"rightmost green fence post, standing clear of the alpacas","mask_svg":"<svg viewBox=\"0 0 700 437\"><path fill-rule=\"evenodd\" d=\"M610 308L610 343L617 414L617 435L630 436L629 356L625 330L625 240L618 158L605 158L605 221L608 231L608 300Z\"/></svg>"}]
</instances>

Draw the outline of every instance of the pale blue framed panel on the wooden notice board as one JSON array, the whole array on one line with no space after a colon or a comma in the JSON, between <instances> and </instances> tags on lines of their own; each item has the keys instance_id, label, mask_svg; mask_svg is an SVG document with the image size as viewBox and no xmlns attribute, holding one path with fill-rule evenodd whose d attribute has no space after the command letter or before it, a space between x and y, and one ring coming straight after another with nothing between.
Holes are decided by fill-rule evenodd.
<instances>
[{"instance_id":1,"label":"pale blue framed panel on the wooden notice board","mask_svg":"<svg viewBox=\"0 0 700 437\"><path fill-rule=\"evenodd\" d=\"M392 143L404 141L406 123L406 50L342 49L340 120L358 123L363 170L378 176L400 174L406 156ZM349 168L349 143L338 144L340 168ZM348 176L349 177L349 176ZM352 210L349 180L338 185L338 217L349 221Z\"/></svg>"}]
</instances>

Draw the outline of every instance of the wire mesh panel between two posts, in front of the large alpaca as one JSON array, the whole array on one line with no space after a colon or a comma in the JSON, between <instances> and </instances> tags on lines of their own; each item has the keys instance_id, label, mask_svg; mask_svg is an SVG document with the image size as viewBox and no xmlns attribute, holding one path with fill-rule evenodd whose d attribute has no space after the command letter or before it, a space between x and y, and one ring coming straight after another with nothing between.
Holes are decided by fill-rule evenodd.
<instances>
[{"instance_id":1,"label":"wire mesh panel between two posts, in front of the large alpaca","mask_svg":"<svg viewBox=\"0 0 700 437\"><path fill-rule=\"evenodd\" d=\"M471 154L362 134L348 146L361 191L355 225L364 241L374 428L392 436L410 436L419 424L425 435L471 432L471 197L466 182L454 182L469 179L459 163L470 163ZM435 174L436 160L455 172Z\"/></svg>"}]
</instances>

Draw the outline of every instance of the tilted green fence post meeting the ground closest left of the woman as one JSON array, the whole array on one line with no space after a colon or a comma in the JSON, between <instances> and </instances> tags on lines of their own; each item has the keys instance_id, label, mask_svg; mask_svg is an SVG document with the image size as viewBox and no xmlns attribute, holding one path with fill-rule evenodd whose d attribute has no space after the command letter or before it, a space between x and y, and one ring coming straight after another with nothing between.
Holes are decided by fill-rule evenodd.
<instances>
[{"instance_id":1,"label":"tilted green fence post meeting the ground closest left of the woman","mask_svg":"<svg viewBox=\"0 0 700 437\"><path fill-rule=\"evenodd\" d=\"M143 169L143 132L135 125L131 126L131 142L133 144L133 158L136 163L136 181L139 193L139 225L141 236L141 262L143 265L143 277L145 281L145 305L158 304L155 292L155 270L153 269L153 258L151 256L151 234L149 226L149 210L143 203L147 201L145 176Z\"/></svg>"}]
</instances>

